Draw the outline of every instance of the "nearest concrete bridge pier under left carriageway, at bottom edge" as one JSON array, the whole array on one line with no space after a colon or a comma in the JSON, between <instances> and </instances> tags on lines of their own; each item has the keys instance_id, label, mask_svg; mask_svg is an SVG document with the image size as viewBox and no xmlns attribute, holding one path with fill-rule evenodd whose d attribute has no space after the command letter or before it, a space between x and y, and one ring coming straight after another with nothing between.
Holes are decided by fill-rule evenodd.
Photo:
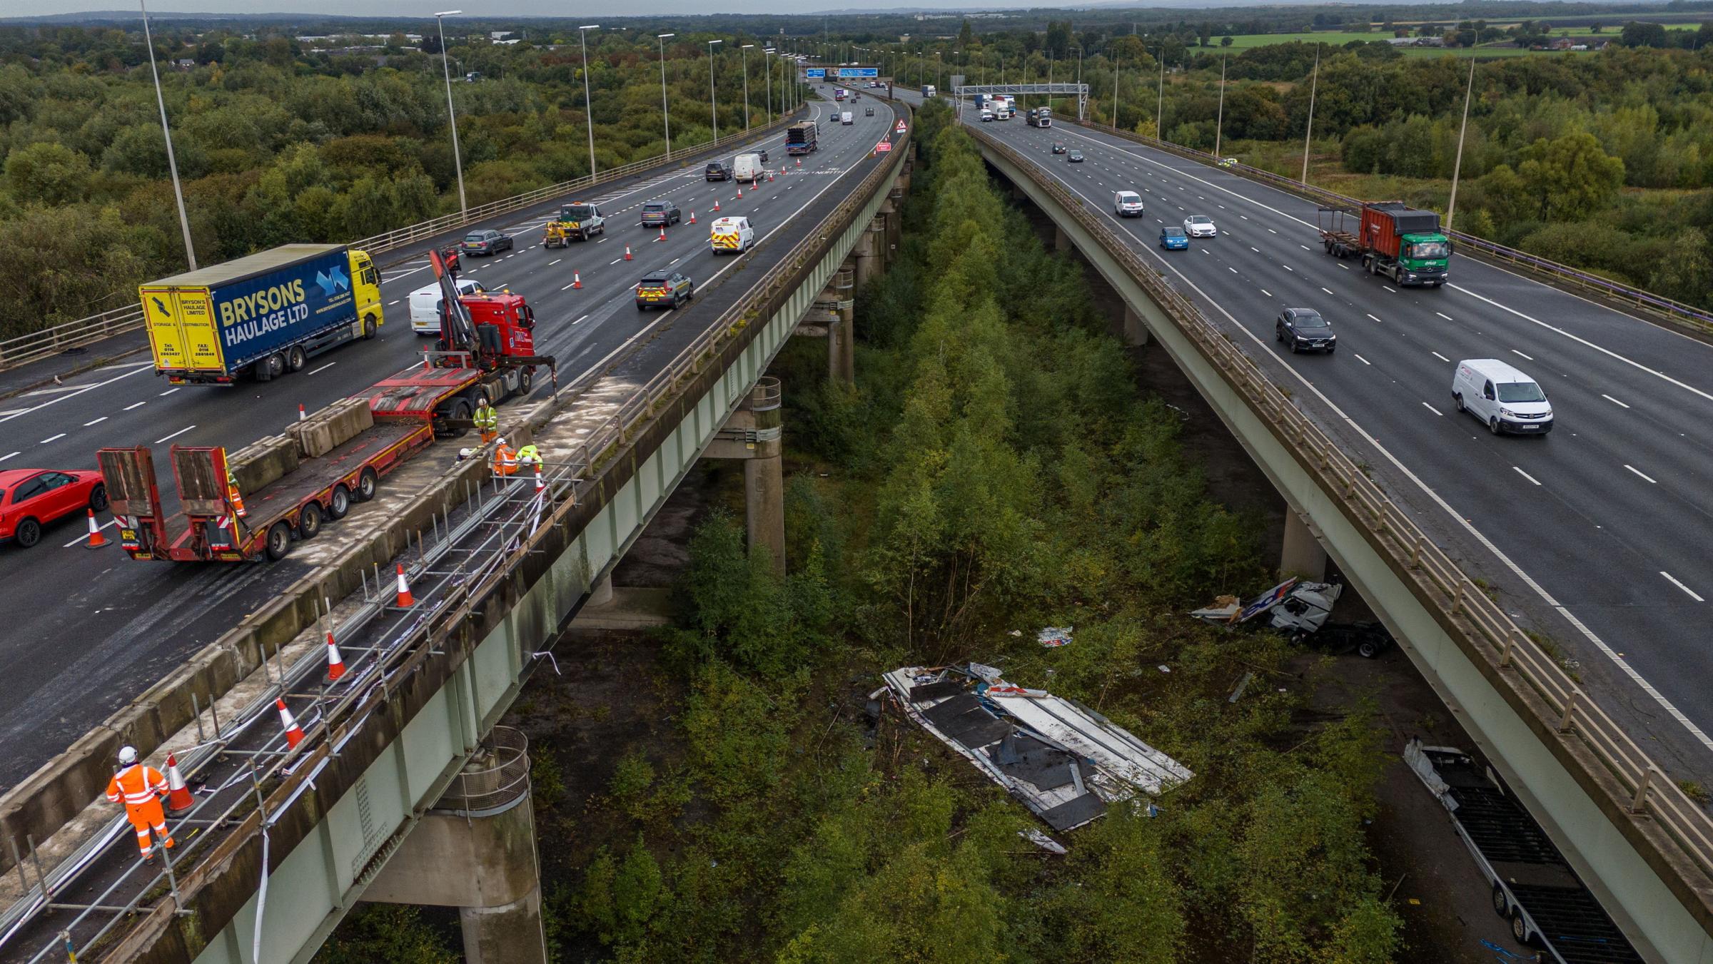
<instances>
[{"instance_id":1,"label":"nearest concrete bridge pier under left carriageway, at bottom edge","mask_svg":"<svg viewBox=\"0 0 1713 964\"><path fill-rule=\"evenodd\" d=\"M469 964L546 964L524 735L497 726L365 901L457 907Z\"/></svg>"}]
</instances>

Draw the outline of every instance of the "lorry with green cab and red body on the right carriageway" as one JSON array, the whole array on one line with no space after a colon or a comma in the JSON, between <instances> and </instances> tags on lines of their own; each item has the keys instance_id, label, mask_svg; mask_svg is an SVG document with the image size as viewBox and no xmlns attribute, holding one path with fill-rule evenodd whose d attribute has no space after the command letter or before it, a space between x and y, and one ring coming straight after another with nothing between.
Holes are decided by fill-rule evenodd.
<instances>
[{"instance_id":1,"label":"lorry with green cab and red body on the right carriageway","mask_svg":"<svg viewBox=\"0 0 1713 964\"><path fill-rule=\"evenodd\" d=\"M1369 274L1394 284L1439 288L1449 277L1451 240L1439 214L1401 200L1364 204L1362 211L1319 209L1321 243L1338 259L1360 257ZM1355 228L1355 231L1352 231Z\"/></svg>"}]
</instances>

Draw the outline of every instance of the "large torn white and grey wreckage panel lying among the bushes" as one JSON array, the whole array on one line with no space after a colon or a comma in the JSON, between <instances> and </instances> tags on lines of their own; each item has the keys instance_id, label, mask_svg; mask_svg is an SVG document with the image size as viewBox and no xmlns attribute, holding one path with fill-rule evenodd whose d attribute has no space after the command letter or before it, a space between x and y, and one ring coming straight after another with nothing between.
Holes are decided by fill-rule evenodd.
<instances>
[{"instance_id":1,"label":"large torn white and grey wreckage panel lying among the bushes","mask_svg":"<svg viewBox=\"0 0 1713 964\"><path fill-rule=\"evenodd\" d=\"M911 719L1055 830L1194 776L1107 717L1047 690L1014 687L992 666L904 666L884 678Z\"/></svg>"}]
</instances>

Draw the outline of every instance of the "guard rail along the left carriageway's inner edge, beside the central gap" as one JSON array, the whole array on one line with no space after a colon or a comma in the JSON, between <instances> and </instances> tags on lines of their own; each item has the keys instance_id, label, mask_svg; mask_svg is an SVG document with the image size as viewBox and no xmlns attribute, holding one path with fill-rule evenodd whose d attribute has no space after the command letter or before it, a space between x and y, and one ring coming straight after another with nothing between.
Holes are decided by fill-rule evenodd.
<instances>
[{"instance_id":1,"label":"guard rail along the left carriageway's inner edge, beside the central gap","mask_svg":"<svg viewBox=\"0 0 1713 964\"><path fill-rule=\"evenodd\" d=\"M899 106L908 111L908 106ZM915 125L911 123L908 128L913 130ZM252 808L248 813L240 805L235 805L231 812L221 815L221 822L233 827L231 834L214 844L214 849L200 865L182 866L178 892L194 894L219 873L223 856L235 854L247 841L264 836L264 815L271 825L284 810L298 801L305 789L308 789L310 781L336 757L337 748L344 747L356 735L363 721L380 705L375 702L377 695L385 697L389 685L411 678L428 659L444 656L433 642L449 637L461 623L475 618L476 608L505 584L512 567L529 556L541 534L558 526L572 509L594 493L600 483L600 469L624 443L636 438L639 430L654 418L668 396L677 394L704 372L718 358L719 351L731 339L737 339L743 329L766 320L769 305L774 305L781 295L790 293L791 288L802 283L800 276L826 255L833 240L850 226L850 221L862 211L872 193L887 178L896 175L908 149L910 134L906 132L898 137L889 156L800 245L785 252L779 262L762 274L743 298L721 312L670 365L639 387L612 420L591 433L591 438L577 450L577 459L553 471L553 479L548 481L548 493L552 493L553 502L552 514L534 526L531 536L510 541L504 560L486 567L480 572L478 579L451 587L433 613L425 615L421 622L411 625L397 642L379 651L377 661L358 673L355 685L343 697L325 704L320 719L305 723L307 740L296 748L278 755L266 771L257 774L257 786L267 788L266 800L257 801L259 808ZM560 408L557 402L560 401L574 404L577 394L603 375L606 372L589 372L574 384L560 389L555 394L555 404L550 406L550 411L557 411ZM317 668L319 661L300 659L293 664L293 675L296 676L298 671L319 671ZM248 723L235 726L248 726ZM180 913L171 892L161 892L164 882L163 872L147 889L147 894L154 899L152 906L139 904L142 901L142 896L139 896L130 904L130 907L135 907L135 916L115 916L101 930L98 942L116 938L123 949L139 931L152 930L158 933L164 928L164 921ZM132 923L130 935L115 935L122 921ZM38 954L36 959L43 959L43 954L46 950Z\"/></svg>"}]
</instances>

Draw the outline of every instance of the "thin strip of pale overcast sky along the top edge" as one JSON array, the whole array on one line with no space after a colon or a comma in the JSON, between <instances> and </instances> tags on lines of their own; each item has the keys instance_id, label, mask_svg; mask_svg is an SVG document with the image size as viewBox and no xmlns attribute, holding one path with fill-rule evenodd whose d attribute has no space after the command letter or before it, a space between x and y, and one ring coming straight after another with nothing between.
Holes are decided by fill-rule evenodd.
<instances>
[{"instance_id":1,"label":"thin strip of pale overcast sky along the top edge","mask_svg":"<svg viewBox=\"0 0 1713 964\"><path fill-rule=\"evenodd\" d=\"M440 3L439 7L435 3ZM935 9L994 10L1004 7L1021 7L1004 0L932 0ZM1042 3L1050 5L1050 3ZM161 14L348 14L373 17L421 17L435 10L463 7L469 14L483 17L600 17L603 12L615 14L606 3L565 3L564 0L159 0L149 3L149 12ZM624 3L625 15L651 14L814 14L821 10L853 9L899 9L908 3L886 2L862 3L853 0L630 0ZM89 10L127 10L130 3L122 0L29 0L31 14L77 14ZM14 7L14 14L22 7Z\"/></svg>"}]
</instances>

